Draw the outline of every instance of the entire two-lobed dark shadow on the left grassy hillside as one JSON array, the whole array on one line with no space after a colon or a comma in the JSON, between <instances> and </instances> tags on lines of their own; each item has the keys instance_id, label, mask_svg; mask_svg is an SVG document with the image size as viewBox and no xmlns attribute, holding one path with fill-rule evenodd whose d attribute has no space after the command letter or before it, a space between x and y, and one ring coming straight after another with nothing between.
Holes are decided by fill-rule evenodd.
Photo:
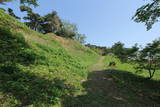
<instances>
[{"instance_id":1,"label":"entire two-lobed dark shadow on the left grassy hillside","mask_svg":"<svg viewBox=\"0 0 160 107\"><path fill-rule=\"evenodd\" d=\"M72 94L74 87L64 80L40 77L19 66L36 65L40 60L44 61L45 57L36 53L22 34L0 26L0 106L6 102L7 107L39 107L58 103L62 97Z\"/></svg>"}]
</instances>

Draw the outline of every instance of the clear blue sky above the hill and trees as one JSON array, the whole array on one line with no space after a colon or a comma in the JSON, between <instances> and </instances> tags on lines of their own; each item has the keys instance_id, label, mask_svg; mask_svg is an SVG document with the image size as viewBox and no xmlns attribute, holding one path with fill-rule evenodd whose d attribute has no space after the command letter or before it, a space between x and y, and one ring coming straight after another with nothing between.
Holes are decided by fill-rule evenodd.
<instances>
[{"instance_id":1,"label":"clear blue sky above the hill and trees","mask_svg":"<svg viewBox=\"0 0 160 107\"><path fill-rule=\"evenodd\" d=\"M160 35L159 24L146 31L143 23L131 20L136 9L145 4L143 0L39 0L39 4L35 12L44 15L56 10L62 19L78 25L79 33L86 34L87 43L112 46L121 41L126 47L135 43L144 46ZM11 7L23 16L17 5L14 1L0 7Z\"/></svg>"}]
</instances>

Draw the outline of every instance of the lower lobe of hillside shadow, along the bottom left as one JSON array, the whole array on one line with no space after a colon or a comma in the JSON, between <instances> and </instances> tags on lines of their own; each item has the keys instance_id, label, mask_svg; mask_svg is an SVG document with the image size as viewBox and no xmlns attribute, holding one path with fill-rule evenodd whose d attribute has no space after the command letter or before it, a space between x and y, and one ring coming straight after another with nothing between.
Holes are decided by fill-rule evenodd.
<instances>
[{"instance_id":1,"label":"lower lobe of hillside shadow, along the bottom left","mask_svg":"<svg viewBox=\"0 0 160 107\"><path fill-rule=\"evenodd\" d=\"M45 79L29 71L12 74L0 72L0 92L8 96L1 98L0 104L5 101L11 104L8 106L16 107L55 104L73 91L74 88L71 85L57 78ZM10 100L14 101L8 102L8 98L11 97L13 99Z\"/></svg>"}]
</instances>

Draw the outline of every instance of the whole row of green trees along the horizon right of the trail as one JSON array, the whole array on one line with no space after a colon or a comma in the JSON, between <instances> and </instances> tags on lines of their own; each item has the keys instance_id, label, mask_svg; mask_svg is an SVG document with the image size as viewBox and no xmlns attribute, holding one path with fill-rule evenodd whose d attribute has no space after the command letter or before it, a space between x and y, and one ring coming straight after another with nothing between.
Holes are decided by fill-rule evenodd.
<instances>
[{"instance_id":1,"label":"whole row of green trees along the horizon right of the trail","mask_svg":"<svg viewBox=\"0 0 160 107\"><path fill-rule=\"evenodd\" d=\"M160 70L160 39L148 43L144 48L138 44L126 48L122 42L115 43L111 48L91 44L86 46L100 55L111 55L120 59L122 63L132 63L137 72L148 71L149 79Z\"/></svg>"}]
</instances>

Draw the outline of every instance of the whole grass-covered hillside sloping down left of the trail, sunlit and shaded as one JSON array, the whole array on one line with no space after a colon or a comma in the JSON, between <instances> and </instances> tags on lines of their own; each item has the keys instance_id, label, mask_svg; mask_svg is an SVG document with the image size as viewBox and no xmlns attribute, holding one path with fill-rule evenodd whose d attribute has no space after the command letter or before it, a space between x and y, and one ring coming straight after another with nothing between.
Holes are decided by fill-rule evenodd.
<instances>
[{"instance_id":1,"label":"whole grass-covered hillside sloping down left of the trail, sunlit and shaded","mask_svg":"<svg viewBox=\"0 0 160 107\"><path fill-rule=\"evenodd\" d=\"M99 56L70 39L30 30L0 10L0 107L60 106L83 90Z\"/></svg>"}]
</instances>

